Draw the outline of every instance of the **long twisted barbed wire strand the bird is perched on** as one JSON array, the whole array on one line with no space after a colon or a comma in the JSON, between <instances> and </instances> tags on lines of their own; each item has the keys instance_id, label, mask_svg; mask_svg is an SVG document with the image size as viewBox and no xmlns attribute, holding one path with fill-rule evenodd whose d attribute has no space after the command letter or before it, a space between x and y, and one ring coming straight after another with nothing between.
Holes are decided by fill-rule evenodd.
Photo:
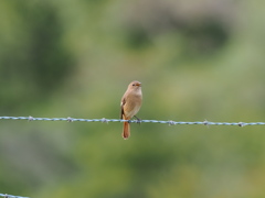
<instances>
[{"instance_id":1,"label":"long twisted barbed wire strand the bird is perched on","mask_svg":"<svg viewBox=\"0 0 265 198\"><path fill-rule=\"evenodd\" d=\"M177 125L177 124L202 124L202 125L265 125L265 122L211 122L208 120L204 121L195 121L195 122L186 122L186 121L173 121L173 120L123 120L123 119L75 119L75 118L34 118L34 117L0 117L0 120L28 120L28 121L67 121L67 122L130 122L130 123L166 123L169 125Z\"/></svg>"}]
</instances>

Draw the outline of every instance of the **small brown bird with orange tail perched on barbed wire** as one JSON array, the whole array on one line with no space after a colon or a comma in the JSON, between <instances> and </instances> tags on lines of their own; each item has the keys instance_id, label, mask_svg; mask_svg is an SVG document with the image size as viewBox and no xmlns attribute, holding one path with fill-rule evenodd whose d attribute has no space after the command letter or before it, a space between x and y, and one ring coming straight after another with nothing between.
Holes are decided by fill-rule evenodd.
<instances>
[{"instance_id":1,"label":"small brown bird with orange tail perched on barbed wire","mask_svg":"<svg viewBox=\"0 0 265 198\"><path fill-rule=\"evenodd\" d=\"M140 110L142 100L141 82L131 81L121 98L120 119L130 120ZM137 118L138 119L138 118ZM126 140L130 135L129 122L124 122L124 131L121 133Z\"/></svg>"}]
</instances>

